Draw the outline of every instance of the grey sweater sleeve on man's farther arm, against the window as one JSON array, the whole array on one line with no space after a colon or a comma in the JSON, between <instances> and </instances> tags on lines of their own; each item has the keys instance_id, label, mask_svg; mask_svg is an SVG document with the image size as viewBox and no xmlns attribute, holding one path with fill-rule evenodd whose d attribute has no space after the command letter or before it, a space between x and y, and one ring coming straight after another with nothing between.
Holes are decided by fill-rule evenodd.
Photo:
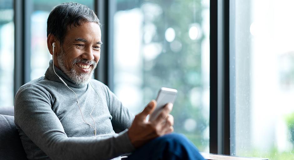
<instances>
[{"instance_id":1,"label":"grey sweater sleeve on man's farther arm, against the window","mask_svg":"<svg viewBox=\"0 0 294 160\"><path fill-rule=\"evenodd\" d=\"M129 110L123 106L121 101L115 96L113 92L107 87L108 97L109 97L109 112L112 116L112 126L116 133L124 131L129 128L134 120L134 115L129 112Z\"/></svg>"}]
</instances>

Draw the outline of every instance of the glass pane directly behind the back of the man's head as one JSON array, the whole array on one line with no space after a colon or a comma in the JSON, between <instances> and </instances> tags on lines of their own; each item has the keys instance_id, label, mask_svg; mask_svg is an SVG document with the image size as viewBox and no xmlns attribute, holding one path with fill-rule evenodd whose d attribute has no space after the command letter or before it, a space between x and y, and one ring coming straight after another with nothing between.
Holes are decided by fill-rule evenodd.
<instances>
[{"instance_id":1,"label":"glass pane directly behind the back of the man's head","mask_svg":"<svg viewBox=\"0 0 294 160\"><path fill-rule=\"evenodd\" d=\"M50 11L66 0L33 0L31 15L31 80L44 75L52 55L47 48L47 18ZM73 0L94 10L94 0Z\"/></svg>"}]
</instances>

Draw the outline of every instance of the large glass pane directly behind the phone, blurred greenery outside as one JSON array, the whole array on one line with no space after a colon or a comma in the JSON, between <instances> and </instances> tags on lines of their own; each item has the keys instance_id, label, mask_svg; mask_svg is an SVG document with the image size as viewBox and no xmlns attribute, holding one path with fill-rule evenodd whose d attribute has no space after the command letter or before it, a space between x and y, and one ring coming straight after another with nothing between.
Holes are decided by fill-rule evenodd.
<instances>
[{"instance_id":1,"label":"large glass pane directly behind the phone, blurred greenery outside","mask_svg":"<svg viewBox=\"0 0 294 160\"><path fill-rule=\"evenodd\" d=\"M178 90L175 132L209 152L209 0L116 0L114 93L137 114Z\"/></svg>"}]
</instances>

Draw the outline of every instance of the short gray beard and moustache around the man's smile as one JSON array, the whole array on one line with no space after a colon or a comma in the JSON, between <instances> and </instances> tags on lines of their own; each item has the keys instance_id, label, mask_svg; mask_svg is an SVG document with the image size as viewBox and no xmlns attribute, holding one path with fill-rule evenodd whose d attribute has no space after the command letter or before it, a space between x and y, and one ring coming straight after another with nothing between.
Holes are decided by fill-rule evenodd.
<instances>
[{"instance_id":1,"label":"short gray beard and moustache around the man's smile","mask_svg":"<svg viewBox=\"0 0 294 160\"><path fill-rule=\"evenodd\" d=\"M91 79L95 68L97 67L97 63L92 60L92 61L87 61L84 59L79 59L76 58L72 61L72 65L74 66L77 62L82 62L82 63L90 63L93 65L93 69L89 73L78 73L74 67L72 67L70 70L68 70L65 67L65 52L63 48L61 48L61 52L57 55L57 64L60 67L61 71L65 73L72 81L78 86L83 86L85 84L88 84L89 80Z\"/></svg>"}]
</instances>

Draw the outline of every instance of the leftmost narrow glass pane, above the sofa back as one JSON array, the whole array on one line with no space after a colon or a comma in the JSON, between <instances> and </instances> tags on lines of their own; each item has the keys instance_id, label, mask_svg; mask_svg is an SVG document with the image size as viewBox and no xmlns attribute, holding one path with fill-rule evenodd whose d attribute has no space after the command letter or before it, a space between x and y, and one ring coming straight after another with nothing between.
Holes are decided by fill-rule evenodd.
<instances>
[{"instance_id":1,"label":"leftmost narrow glass pane, above the sofa back","mask_svg":"<svg viewBox=\"0 0 294 160\"><path fill-rule=\"evenodd\" d=\"M0 1L0 107L13 106L13 15L13 0Z\"/></svg>"}]
</instances>

